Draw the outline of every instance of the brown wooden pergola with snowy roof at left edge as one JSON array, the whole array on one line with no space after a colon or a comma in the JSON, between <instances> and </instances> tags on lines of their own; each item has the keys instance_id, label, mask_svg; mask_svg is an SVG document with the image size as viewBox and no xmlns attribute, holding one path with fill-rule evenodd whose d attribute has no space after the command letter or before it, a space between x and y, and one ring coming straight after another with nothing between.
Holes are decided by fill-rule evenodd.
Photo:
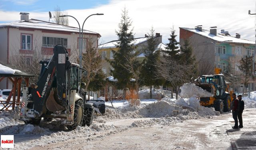
<instances>
[{"instance_id":1,"label":"brown wooden pergola with snowy roof at left edge","mask_svg":"<svg viewBox=\"0 0 256 150\"><path fill-rule=\"evenodd\" d=\"M10 65L2 64L6 67L9 67L11 69L16 69ZM29 78L34 77L34 75L28 74L26 72L23 72L21 70L16 71L14 74L0 74L0 82L4 78L8 78L12 84L12 90L7 98L7 100L0 100L0 105L3 105L4 107L0 110L8 110L10 106L12 106L12 110L14 110L15 106L19 106L21 104L20 102L20 89L21 89L21 84L22 80L26 82L26 86L28 87L29 84ZM16 92L17 92L17 100L16 100ZM12 100L11 100L12 98Z\"/></svg>"}]
</instances>

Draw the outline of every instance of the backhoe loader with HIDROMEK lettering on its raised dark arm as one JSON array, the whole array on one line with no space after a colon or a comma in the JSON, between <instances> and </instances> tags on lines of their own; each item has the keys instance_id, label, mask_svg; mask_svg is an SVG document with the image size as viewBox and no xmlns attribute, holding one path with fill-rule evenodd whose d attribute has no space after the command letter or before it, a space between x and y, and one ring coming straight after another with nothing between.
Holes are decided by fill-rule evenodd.
<instances>
[{"instance_id":1,"label":"backhoe loader with HIDROMEK lettering on its raised dark arm","mask_svg":"<svg viewBox=\"0 0 256 150\"><path fill-rule=\"evenodd\" d=\"M94 107L86 103L85 92L81 92L78 74L82 68L68 60L68 51L63 45L53 48L50 61L41 61L40 76L35 87L28 93L23 88L21 120L26 124L39 124L41 118L50 121L60 118L69 130L77 126L90 126Z\"/></svg>"}]
</instances>

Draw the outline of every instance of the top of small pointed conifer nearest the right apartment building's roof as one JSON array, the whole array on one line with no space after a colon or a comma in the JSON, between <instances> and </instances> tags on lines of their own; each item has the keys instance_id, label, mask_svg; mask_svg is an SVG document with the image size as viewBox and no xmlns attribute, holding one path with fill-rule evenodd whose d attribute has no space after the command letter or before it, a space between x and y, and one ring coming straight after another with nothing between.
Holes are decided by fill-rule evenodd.
<instances>
[{"instance_id":1,"label":"top of small pointed conifer nearest the right apartment building's roof","mask_svg":"<svg viewBox=\"0 0 256 150\"><path fill-rule=\"evenodd\" d=\"M178 53L180 52L180 50L178 50L178 44L180 44L180 42L177 42L176 36L177 35L175 35L174 27L172 27L172 33L170 34L170 38L168 38L169 43L166 44L166 50L163 50L165 53L167 53L170 57L174 59L177 58Z\"/></svg>"}]
</instances>

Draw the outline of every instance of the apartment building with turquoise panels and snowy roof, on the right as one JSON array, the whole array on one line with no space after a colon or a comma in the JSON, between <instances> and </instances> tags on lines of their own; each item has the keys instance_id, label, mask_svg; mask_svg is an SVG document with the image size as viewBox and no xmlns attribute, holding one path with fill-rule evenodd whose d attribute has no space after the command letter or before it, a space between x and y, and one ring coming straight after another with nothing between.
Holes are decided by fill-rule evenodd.
<instances>
[{"instance_id":1,"label":"apartment building with turquoise panels and snowy roof, on the right","mask_svg":"<svg viewBox=\"0 0 256 150\"><path fill-rule=\"evenodd\" d=\"M217 33L217 27L210 27L205 30L202 26L195 28L180 27L180 45L184 40L189 40L194 50L194 55L198 60L198 70L200 75L212 74L215 66L226 71L228 64L233 68L232 71L240 72L238 66L241 58L254 56L255 42L242 39L240 34L231 36L228 31L221 30ZM256 90L256 82L250 80L250 85L245 87L245 91ZM242 92L244 85L237 85L233 90Z\"/></svg>"}]
</instances>

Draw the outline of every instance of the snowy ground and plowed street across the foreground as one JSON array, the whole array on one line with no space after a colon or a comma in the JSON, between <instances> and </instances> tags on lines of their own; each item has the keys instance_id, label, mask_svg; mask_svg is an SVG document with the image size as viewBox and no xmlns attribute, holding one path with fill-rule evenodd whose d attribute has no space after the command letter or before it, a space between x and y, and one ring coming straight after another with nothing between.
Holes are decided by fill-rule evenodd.
<instances>
[{"instance_id":1,"label":"snowy ground and plowed street across the foreground","mask_svg":"<svg viewBox=\"0 0 256 150\"><path fill-rule=\"evenodd\" d=\"M147 95L144 92L142 98ZM0 134L14 134L16 149L52 150L70 149L71 146L74 149L187 149L189 146L204 149L214 146L210 140L215 139L217 144L216 137L220 138L218 133L224 130L216 128L217 124L233 125L230 113L220 115L213 108L200 106L194 97L176 100L164 90L154 90L154 94L162 99L141 99L140 106L130 107L125 100L114 101L114 106L106 102L105 116L95 116L90 127L78 127L72 131L57 119L52 122L42 120L39 126L24 125L18 121L16 111L3 112L0 114ZM255 109L248 108L256 108L256 92L252 92L250 99L243 99L248 113L253 112L255 116ZM203 142L200 139L204 139ZM178 144L179 140L194 142ZM230 144L226 136L220 140L225 148Z\"/></svg>"}]
</instances>

